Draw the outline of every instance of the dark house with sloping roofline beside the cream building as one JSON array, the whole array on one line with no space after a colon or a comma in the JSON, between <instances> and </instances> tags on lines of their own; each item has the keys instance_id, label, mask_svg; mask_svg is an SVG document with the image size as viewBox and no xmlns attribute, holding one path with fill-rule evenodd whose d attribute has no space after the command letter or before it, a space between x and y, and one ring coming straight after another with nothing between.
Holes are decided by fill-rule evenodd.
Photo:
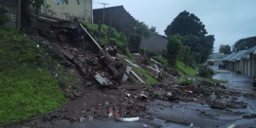
<instances>
[{"instance_id":1,"label":"dark house with sloping roofline beside the cream building","mask_svg":"<svg viewBox=\"0 0 256 128\"><path fill-rule=\"evenodd\" d=\"M116 28L119 32L125 33L128 38L131 27L135 27L137 24L136 19L123 6L93 9L93 17L95 24L101 22L110 26L112 21L112 27Z\"/></svg>"}]
</instances>

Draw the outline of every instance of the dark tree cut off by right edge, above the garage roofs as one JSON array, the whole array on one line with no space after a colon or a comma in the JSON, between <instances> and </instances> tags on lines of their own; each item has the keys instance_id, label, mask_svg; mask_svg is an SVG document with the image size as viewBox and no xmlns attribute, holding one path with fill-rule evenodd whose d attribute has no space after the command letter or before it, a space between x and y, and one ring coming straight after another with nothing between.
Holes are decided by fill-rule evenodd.
<instances>
[{"instance_id":1,"label":"dark tree cut off by right edge, above the garage roofs","mask_svg":"<svg viewBox=\"0 0 256 128\"><path fill-rule=\"evenodd\" d=\"M256 36L238 40L233 46L233 52L247 50L253 46L256 46Z\"/></svg>"}]
</instances>

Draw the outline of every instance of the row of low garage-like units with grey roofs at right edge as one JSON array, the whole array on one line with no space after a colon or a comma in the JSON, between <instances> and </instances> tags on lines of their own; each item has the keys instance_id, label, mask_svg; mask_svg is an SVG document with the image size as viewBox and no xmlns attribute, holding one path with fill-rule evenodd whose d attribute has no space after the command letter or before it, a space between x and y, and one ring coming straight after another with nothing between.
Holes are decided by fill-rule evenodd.
<instances>
[{"instance_id":1,"label":"row of low garage-like units with grey roofs at right edge","mask_svg":"<svg viewBox=\"0 0 256 128\"><path fill-rule=\"evenodd\" d=\"M241 50L230 54L223 59L226 64L226 68L230 71L240 71L247 76L256 75L256 46L251 47L248 50Z\"/></svg>"}]
</instances>

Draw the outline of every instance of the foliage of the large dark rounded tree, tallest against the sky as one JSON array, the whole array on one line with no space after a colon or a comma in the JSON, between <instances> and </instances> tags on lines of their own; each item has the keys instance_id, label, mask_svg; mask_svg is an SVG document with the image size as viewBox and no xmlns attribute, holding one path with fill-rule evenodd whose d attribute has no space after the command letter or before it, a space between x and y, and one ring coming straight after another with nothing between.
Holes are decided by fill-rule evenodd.
<instances>
[{"instance_id":1,"label":"foliage of the large dark rounded tree, tallest against the sky","mask_svg":"<svg viewBox=\"0 0 256 128\"><path fill-rule=\"evenodd\" d=\"M198 17L186 10L180 12L174 18L171 25L165 29L165 34L180 35L182 37L180 41L183 43L183 46L189 46L192 52L200 54L200 59L198 59L200 64L206 62L213 51L214 36L206 36L207 30L205 25L200 22Z\"/></svg>"}]
</instances>

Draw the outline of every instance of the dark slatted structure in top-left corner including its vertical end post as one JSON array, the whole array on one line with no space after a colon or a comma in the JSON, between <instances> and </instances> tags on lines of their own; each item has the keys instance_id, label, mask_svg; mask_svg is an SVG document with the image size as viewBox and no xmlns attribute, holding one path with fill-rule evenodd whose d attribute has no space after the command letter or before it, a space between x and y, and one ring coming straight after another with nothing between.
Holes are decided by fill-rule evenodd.
<instances>
[{"instance_id":1,"label":"dark slatted structure in top-left corner including its vertical end post","mask_svg":"<svg viewBox=\"0 0 256 128\"><path fill-rule=\"evenodd\" d=\"M0 6L7 8L7 15L12 17L12 19L9 22L7 22L4 26L20 28L21 0L0 0Z\"/></svg>"}]
</instances>

